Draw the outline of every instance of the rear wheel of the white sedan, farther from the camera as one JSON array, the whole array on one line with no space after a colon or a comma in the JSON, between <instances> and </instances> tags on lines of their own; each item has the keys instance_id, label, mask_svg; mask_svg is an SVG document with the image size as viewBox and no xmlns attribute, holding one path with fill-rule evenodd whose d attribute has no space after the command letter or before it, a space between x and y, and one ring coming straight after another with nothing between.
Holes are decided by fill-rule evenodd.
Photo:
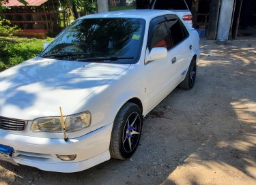
<instances>
[{"instance_id":1,"label":"rear wheel of the white sedan, farther from the camera","mask_svg":"<svg viewBox=\"0 0 256 185\"><path fill-rule=\"evenodd\" d=\"M197 62L195 58L193 58L188 67L188 72L186 73L186 77L182 82L180 82L179 87L186 90L193 88L195 84L196 76L197 76Z\"/></svg>"}]
</instances>

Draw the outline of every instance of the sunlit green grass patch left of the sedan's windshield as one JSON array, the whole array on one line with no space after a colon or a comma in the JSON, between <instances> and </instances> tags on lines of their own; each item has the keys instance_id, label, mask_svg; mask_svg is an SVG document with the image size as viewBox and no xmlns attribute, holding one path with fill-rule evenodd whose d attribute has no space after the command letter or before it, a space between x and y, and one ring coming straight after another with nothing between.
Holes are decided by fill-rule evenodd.
<instances>
[{"instance_id":1,"label":"sunlit green grass patch left of the sedan's windshield","mask_svg":"<svg viewBox=\"0 0 256 185\"><path fill-rule=\"evenodd\" d=\"M0 71L33 58L43 50L44 42L53 38L28 39L19 37L0 37Z\"/></svg>"}]
</instances>

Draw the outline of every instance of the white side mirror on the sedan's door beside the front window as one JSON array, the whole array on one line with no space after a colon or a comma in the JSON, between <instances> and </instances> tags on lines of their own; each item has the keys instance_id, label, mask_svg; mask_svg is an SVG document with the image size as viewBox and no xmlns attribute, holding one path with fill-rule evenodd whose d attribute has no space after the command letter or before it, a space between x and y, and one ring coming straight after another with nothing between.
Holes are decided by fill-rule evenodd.
<instances>
[{"instance_id":1,"label":"white side mirror on the sedan's door beside the front window","mask_svg":"<svg viewBox=\"0 0 256 185\"><path fill-rule=\"evenodd\" d=\"M154 61L154 60L166 58L167 54L168 54L167 48L164 48L164 47L152 48L150 53L149 53L149 51L147 49L145 63L147 63L149 61Z\"/></svg>"}]
</instances>

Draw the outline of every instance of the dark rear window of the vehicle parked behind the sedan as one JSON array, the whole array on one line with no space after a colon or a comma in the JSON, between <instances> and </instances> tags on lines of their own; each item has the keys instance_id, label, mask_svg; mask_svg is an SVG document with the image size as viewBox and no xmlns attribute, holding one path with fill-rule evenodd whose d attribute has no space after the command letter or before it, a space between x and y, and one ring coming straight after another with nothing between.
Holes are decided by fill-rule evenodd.
<instances>
[{"instance_id":1,"label":"dark rear window of the vehicle parked behind the sedan","mask_svg":"<svg viewBox=\"0 0 256 185\"><path fill-rule=\"evenodd\" d=\"M184 0L156 0L154 8L156 10L188 10Z\"/></svg>"}]
</instances>

